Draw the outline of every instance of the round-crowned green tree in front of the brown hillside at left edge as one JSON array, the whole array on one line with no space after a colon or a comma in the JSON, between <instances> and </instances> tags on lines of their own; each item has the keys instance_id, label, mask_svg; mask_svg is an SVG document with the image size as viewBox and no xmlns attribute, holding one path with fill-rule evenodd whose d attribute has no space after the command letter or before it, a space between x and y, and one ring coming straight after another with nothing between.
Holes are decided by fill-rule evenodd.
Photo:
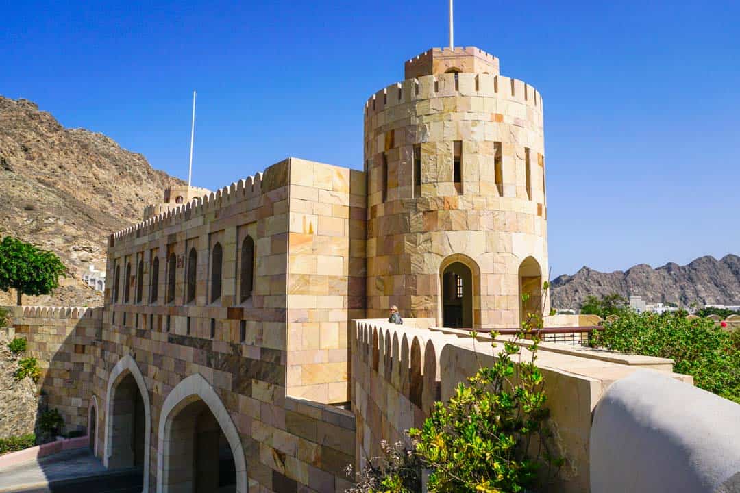
<instances>
[{"instance_id":1,"label":"round-crowned green tree in front of the brown hillside at left edge","mask_svg":"<svg viewBox=\"0 0 740 493\"><path fill-rule=\"evenodd\" d=\"M49 294L59 285L67 268L53 252L41 250L13 237L0 242L0 290L15 289L18 305L21 296Z\"/></svg>"}]
</instances>

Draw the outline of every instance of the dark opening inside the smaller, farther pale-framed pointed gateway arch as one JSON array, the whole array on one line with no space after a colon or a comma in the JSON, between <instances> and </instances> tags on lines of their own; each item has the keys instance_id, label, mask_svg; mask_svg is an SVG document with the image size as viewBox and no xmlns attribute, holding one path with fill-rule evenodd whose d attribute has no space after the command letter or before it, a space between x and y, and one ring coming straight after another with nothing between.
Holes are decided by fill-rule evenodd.
<instances>
[{"instance_id":1,"label":"dark opening inside the smaller, farther pale-framed pointed gateway arch","mask_svg":"<svg viewBox=\"0 0 740 493\"><path fill-rule=\"evenodd\" d=\"M118 378L112 389L109 469L144 467L146 412L136 380L131 373Z\"/></svg>"}]
</instances>

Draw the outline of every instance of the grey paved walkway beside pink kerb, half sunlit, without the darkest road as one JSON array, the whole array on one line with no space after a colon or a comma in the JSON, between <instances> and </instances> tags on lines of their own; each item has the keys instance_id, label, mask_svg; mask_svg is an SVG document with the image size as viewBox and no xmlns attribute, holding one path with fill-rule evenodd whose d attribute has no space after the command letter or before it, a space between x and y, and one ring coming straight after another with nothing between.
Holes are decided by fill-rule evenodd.
<instances>
[{"instance_id":1,"label":"grey paved walkway beside pink kerb, half sunlit, without the darkest road","mask_svg":"<svg viewBox=\"0 0 740 493\"><path fill-rule=\"evenodd\" d=\"M29 460L0 469L0 493L46 486L73 477L106 473L103 464L88 449L67 450L39 460Z\"/></svg>"}]
</instances>

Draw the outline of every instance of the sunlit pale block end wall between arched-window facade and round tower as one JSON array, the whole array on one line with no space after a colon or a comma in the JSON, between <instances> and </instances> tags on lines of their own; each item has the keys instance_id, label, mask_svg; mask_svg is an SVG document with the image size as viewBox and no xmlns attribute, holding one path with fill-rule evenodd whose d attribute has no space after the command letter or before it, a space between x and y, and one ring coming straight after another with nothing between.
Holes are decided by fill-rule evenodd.
<instances>
[{"instance_id":1,"label":"sunlit pale block end wall between arched-window facade and round tower","mask_svg":"<svg viewBox=\"0 0 740 493\"><path fill-rule=\"evenodd\" d=\"M349 325L365 316L366 177L291 160L288 393L349 401Z\"/></svg>"}]
</instances>

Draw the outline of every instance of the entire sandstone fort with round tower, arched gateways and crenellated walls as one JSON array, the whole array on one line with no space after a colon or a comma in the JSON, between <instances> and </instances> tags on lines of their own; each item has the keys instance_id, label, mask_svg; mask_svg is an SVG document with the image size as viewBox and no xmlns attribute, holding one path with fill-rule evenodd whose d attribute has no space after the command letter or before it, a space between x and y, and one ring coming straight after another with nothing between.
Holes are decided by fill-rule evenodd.
<instances>
[{"instance_id":1,"label":"entire sandstone fort with round tower, arched gateways and crenellated walls","mask_svg":"<svg viewBox=\"0 0 740 493\"><path fill-rule=\"evenodd\" d=\"M50 405L107 467L141 467L146 492L343 492L348 464L476 361L429 327L548 306L539 92L475 47L405 72L365 103L363 171L291 157L215 193L170 189L110 236L103 308L16 310ZM372 320L391 305L405 325ZM588 484L579 426L603 389L583 388L554 411L579 444L562 491Z\"/></svg>"}]
</instances>

